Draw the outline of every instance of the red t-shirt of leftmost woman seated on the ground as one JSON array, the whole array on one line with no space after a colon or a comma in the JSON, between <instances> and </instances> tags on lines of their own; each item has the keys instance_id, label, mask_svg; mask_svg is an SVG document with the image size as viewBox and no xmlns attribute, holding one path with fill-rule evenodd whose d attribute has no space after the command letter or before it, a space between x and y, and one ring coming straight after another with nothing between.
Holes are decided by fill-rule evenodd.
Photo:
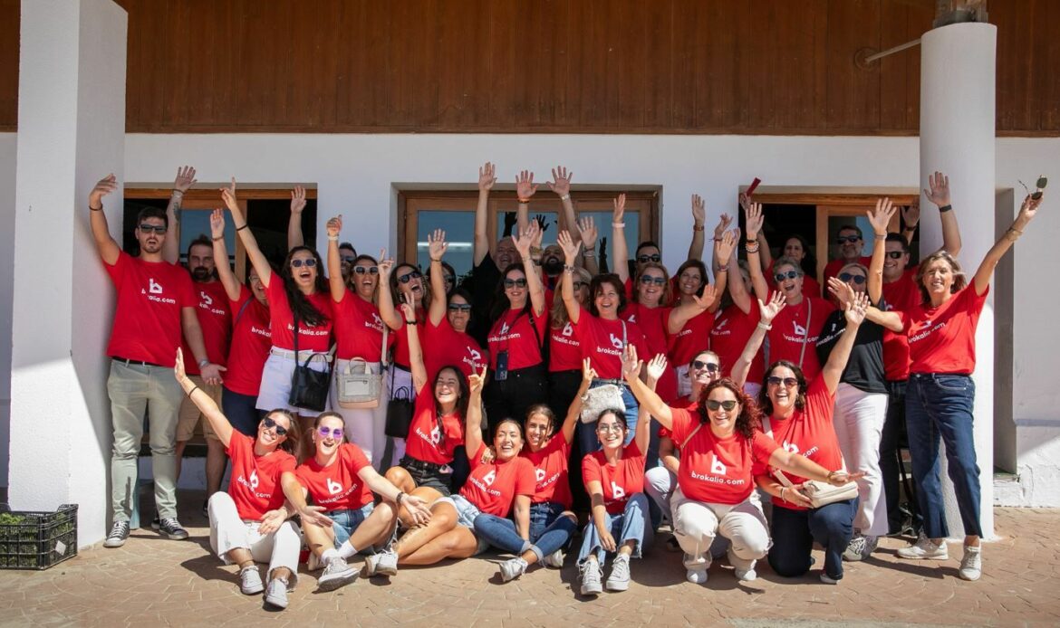
<instances>
[{"instance_id":1,"label":"red t-shirt of leftmost woman seated on the ground","mask_svg":"<svg viewBox=\"0 0 1060 628\"><path fill-rule=\"evenodd\" d=\"M254 454L254 439L233 430L228 442L232 474L228 495L235 502L241 519L261 521L265 513L283 505L280 476L295 471L295 456L282 449L266 455Z\"/></svg>"}]
</instances>

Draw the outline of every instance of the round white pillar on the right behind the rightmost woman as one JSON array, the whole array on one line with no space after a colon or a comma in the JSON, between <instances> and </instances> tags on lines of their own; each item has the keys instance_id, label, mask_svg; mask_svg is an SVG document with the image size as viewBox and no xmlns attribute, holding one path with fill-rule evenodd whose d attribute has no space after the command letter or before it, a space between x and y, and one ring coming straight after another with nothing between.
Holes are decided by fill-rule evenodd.
<instances>
[{"instance_id":1,"label":"round white pillar on the right behind the rightmost woman","mask_svg":"<svg viewBox=\"0 0 1060 628\"><path fill-rule=\"evenodd\" d=\"M994 237L994 59L997 28L960 23L920 39L920 182L950 177L964 247L958 259L975 273ZM921 199L921 256L942 245L938 213ZM983 534L993 536L993 294L975 338L975 453L983 487ZM942 466L946 514L953 537L964 536L953 486Z\"/></svg>"}]
</instances>

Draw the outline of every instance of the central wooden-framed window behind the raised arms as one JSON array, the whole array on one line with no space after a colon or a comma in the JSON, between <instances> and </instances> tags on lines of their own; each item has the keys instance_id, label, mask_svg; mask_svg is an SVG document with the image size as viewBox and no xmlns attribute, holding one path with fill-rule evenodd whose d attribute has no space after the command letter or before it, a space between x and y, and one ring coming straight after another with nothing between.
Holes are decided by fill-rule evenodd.
<instances>
[{"instance_id":1,"label":"central wooden-framed window behind the raised arms","mask_svg":"<svg viewBox=\"0 0 1060 628\"><path fill-rule=\"evenodd\" d=\"M571 201L578 218L591 217L596 222L597 252L601 269L606 265L614 268L611 261L611 216L617 192L571 192ZM658 196L653 191L625 193L625 239L630 255L637 244L656 239L658 234ZM471 271L475 244L475 209L478 205L478 191L425 192L405 191L399 195L400 231L398 250L401 259L418 264L426 270L427 235L435 229L445 231L448 251L445 262L453 265L458 276ZM511 235L515 228L515 212L518 200L514 191L493 191L490 193L487 233L491 234L491 250L499 238ZM550 192L538 190L530 200L530 217L538 219L545 228L542 247L555 244L556 234L564 230L577 229L566 223L560 198ZM605 243L605 239L608 240Z\"/></svg>"}]
</instances>

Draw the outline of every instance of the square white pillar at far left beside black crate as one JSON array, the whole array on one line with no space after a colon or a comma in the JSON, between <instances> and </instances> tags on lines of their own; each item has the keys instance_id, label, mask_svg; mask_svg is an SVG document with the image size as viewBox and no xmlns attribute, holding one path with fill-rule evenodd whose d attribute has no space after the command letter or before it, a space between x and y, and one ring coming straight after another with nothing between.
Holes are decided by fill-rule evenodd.
<instances>
[{"instance_id":1,"label":"square white pillar at far left beside black crate","mask_svg":"<svg viewBox=\"0 0 1060 628\"><path fill-rule=\"evenodd\" d=\"M125 157L125 11L22 0L15 190L13 509L77 503L78 541L106 532L113 289L92 243L92 185ZM120 237L122 194L106 199Z\"/></svg>"}]
</instances>

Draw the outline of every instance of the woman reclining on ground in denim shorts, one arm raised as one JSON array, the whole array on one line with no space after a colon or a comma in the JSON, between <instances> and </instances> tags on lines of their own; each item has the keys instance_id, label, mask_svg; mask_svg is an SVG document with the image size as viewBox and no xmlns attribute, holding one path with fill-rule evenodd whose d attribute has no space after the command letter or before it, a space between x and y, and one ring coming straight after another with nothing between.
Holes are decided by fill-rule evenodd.
<instances>
[{"instance_id":1,"label":"woman reclining on ground in denim shorts, one arm raised","mask_svg":"<svg viewBox=\"0 0 1060 628\"><path fill-rule=\"evenodd\" d=\"M515 527L522 539L530 538L530 499L534 495L534 468L519 456L523 428L512 418L494 428L494 455L487 459L482 442L482 384L485 369L470 378L466 447L471 476L459 495L443 497L430 506L430 522L409 530L394 543L392 556L399 564L434 564L445 558L467 558L480 554L489 542L475 535L475 518L481 514L505 518L515 509ZM377 555L378 556L378 555ZM369 557L369 575L382 572L375 557ZM393 570L396 571L396 568Z\"/></svg>"}]
</instances>

